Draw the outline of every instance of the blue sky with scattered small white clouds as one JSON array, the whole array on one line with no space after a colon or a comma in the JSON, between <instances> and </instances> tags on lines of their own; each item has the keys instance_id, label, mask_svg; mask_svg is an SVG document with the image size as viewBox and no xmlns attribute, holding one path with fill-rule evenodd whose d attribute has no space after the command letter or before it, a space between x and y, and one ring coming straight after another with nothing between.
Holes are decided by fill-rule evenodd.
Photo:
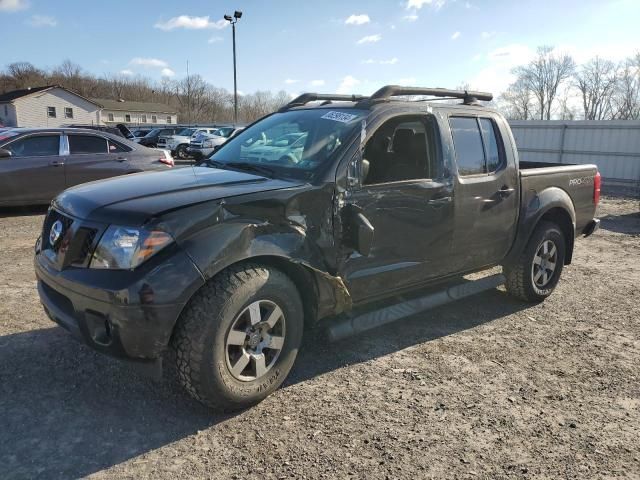
<instances>
[{"instance_id":1,"label":"blue sky with scattered small white clouds","mask_svg":"<svg viewBox=\"0 0 640 480\"><path fill-rule=\"evenodd\" d=\"M640 0L0 0L0 66L70 59L95 75L370 94L387 84L498 94L540 45L578 63L640 51Z\"/></svg>"}]
</instances>

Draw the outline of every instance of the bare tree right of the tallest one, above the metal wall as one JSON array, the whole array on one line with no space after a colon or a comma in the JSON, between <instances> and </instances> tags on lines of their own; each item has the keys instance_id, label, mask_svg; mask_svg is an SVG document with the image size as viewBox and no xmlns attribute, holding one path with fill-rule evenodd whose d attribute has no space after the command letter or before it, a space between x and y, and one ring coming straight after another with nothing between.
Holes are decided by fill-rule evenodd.
<instances>
[{"instance_id":1,"label":"bare tree right of the tallest one, above the metal wall","mask_svg":"<svg viewBox=\"0 0 640 480\"><path fill-rule=\"evenodd\" d=\"M582 97L585 120L611 118L617 80L617 68L610 60L595 57L580 67L575 75L575 86Z\"/></svg>"}]
</instances>

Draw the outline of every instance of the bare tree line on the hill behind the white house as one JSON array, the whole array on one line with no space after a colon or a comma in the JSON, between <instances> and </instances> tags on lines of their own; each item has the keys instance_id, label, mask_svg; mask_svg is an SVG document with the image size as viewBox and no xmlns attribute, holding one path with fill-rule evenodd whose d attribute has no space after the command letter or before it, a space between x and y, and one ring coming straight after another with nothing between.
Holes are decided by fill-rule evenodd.
<instances>
[{"instance_id":1,"label":"bare tree line on the hill behind the white house","mask_svg":"<svg viewBox=\"0 0 640 480\"><path fill-rule=\"evenodd\" d=\"M0 93L44 85L61 85L85 98L162 103L176 109L180 123L230 122L233 119L233 94L207 83L200 75L188 75L180 80L163 78L158 82L141 76L98 77L70 60L47 70L29 62L16 62L0 71ZM251 122L287 101L289 94L285 91L240 95L238 120Z\"/></svg>"}]
</instances>

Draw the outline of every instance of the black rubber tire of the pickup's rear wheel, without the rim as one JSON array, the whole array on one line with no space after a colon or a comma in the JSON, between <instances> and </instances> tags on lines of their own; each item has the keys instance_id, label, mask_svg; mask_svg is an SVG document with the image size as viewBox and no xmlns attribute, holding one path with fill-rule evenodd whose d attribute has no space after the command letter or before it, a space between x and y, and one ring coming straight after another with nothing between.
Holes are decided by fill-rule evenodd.
<instances>
[{"instance_id":1,"label":"black rubber tire of the pickup's rear wheel, without the rim","mask_svg":"<svg viewBox=\"0 0 640 480\"><path fill-rule=\"evenodd\" d=\"M556 246L557 258L551 278L544 288L540 288L533 280L532 269L536 252L546 240L551 240ZM552 222L540 222L516 262L504 266L507 292L525 302L539 303L544 301L553 293L560 280L565 254L566 242L560 227Z\"/></svg>"}]
</instances>

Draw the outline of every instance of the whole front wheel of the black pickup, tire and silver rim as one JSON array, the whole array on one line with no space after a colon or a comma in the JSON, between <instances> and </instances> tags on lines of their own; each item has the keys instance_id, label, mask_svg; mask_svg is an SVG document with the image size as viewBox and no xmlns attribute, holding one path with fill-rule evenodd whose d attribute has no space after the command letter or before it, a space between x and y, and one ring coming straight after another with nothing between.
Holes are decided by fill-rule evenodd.
<instances>
[{"instance_id":1,"label":"whole front wheel of the black pickup, tire and silver rim","mask_svg":"<svg viewBox=\"0 0 640 480\"><path fill-rule=\"evenodd\" d=\"M172 341L178 378L217 410L254 405L289 374L303 325L300 295L284 273L230 267L196 294L178 321Z\"/></svg>"}]
</instances>

